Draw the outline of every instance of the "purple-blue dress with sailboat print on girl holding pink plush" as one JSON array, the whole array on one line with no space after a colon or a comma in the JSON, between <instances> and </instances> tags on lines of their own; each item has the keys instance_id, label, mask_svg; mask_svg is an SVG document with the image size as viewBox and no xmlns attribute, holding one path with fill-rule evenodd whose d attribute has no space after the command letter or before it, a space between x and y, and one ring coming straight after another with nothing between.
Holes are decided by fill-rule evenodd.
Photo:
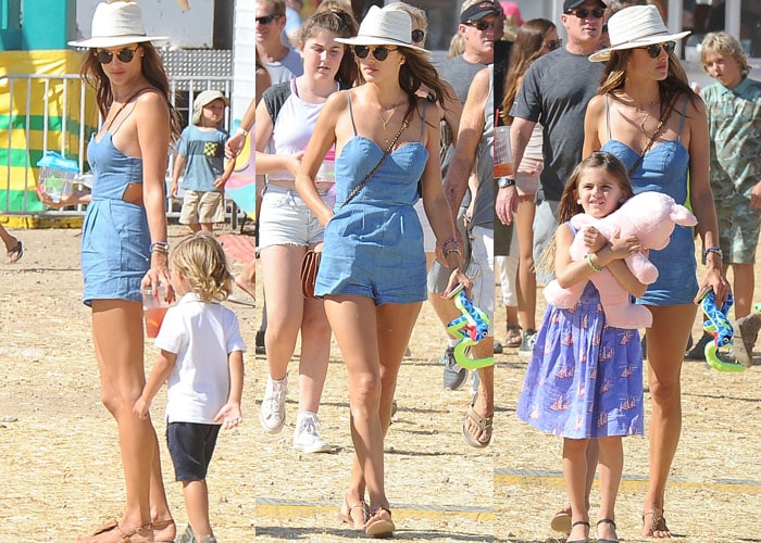
<instances>
[{"instance_id":1,"label":"purple-blue dress with sailboat print on girl holding pink plush","mask_svg":"<svg viewBox=\"0 0 761 543\"><path fill-rule=\"evenodd\" d=\"M643 352L637 330L606 325L587 282L575 307L547 306L516 415L571 439L643 433Z\"/></svg>"}]
</instances>

